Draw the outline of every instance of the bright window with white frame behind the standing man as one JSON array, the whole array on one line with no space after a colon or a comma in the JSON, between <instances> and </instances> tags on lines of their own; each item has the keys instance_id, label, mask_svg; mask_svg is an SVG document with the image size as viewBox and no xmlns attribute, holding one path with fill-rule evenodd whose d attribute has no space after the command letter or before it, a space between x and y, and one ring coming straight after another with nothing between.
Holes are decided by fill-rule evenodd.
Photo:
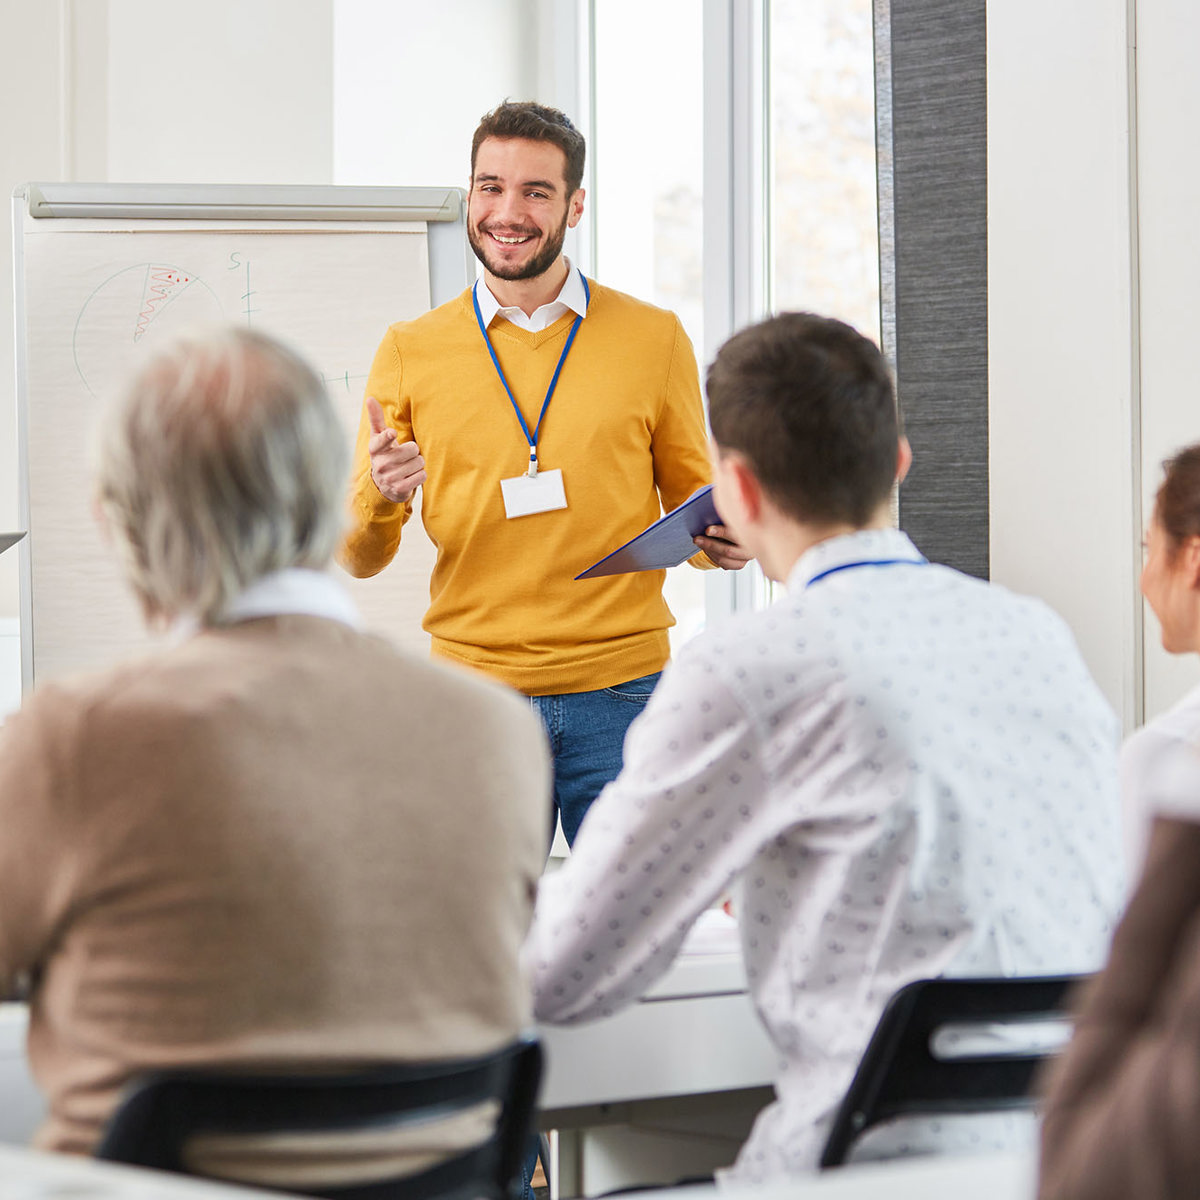
<instances>
[{"instance_id":1,"label":"bright window with white frame behind the standing man","mask_svg":"<svg viewBox=\"0 0 1200 1200\"><path fill-rule=\"evenodd\" d=\"M871 0L589 13L598 276L678 312L701 358L706 325L710 352L764 310L836 316L878 341ZM756 566L707 574L709 612L770 600ZM703 626L706 580L679 568L666 590L678 646Z\"/></svg>"}]
</instances>

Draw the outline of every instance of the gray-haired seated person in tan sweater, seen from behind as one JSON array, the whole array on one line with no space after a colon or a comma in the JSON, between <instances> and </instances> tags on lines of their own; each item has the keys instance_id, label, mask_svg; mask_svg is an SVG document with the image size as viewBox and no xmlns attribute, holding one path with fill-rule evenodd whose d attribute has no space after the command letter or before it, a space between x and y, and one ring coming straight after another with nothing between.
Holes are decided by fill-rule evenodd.
<instances>
[{"instance_id":1,"label":"gray-haired seated person in tan sweater, seen from behind","mask_svg":"<svg viewBox=\"0 0 1200 1200\"><path fill-rule=\"evenodd\" d=\"M365 632L325 574L349 457L320 380L247 331L180 342L103 413L97 461L127 581L180 636L0 731L0 995L29 992L37 1144L89 1152L154 1069L509 1042L545 739L515 695ZM224 1174L318 1186L437 1150L240 1156Z\"/></svg>"}]
</instances>

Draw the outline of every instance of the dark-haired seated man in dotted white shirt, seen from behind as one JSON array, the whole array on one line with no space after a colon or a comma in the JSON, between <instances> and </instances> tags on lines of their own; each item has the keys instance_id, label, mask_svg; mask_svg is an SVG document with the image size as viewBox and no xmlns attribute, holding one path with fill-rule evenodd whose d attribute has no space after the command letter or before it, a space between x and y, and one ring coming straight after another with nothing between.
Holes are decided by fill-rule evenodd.
<instances>
[{"instance_id":1,"label":"dark-haired seated man in dotted white shirt, seen from behind","mask_svg":"<svg viewBox=\"0 0 1200 1200\"><path fill-rule=\"evenodd\" d=\"M726 342L708 397L720 512L787 592L667 668L540 884L524 956L541 1020L607 1015L739 881L746 978L781 1058L732 1172L752 1182L816 1164L904 984L1102 961L1121 902L1117 725L1058 617L892 527L911 454L871 342L775 317ZM875 1152L980 1138L952 1124Z\"/></svg>"}]
</instances>

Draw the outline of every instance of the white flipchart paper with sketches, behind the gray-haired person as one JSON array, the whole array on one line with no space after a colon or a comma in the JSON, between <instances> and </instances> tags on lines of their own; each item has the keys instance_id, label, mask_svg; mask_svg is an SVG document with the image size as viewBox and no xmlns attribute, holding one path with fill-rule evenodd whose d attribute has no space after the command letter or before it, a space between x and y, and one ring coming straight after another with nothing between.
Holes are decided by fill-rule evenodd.
<instances>
[{"instance_id":1,"label":"white flipchart paper with sketches, behind the gray-haired person","mask_svg":"<svg viewBox=\"0 0 1200 1200\"><path fill-rule=\"evenodd\" d=\"M430 307L424 223L389 232L360 230L352 222L332 229L206 224L164 230L146 222L103 232L79 222L26 223L38 680L109 664L149 641L92 518L90 486L95 418L139 362L187 329L250 325L312 362L353 438L384 331ZM409 522L406 542L397 563L374 580L343 580L370 626L415 648L427 644L420 618L433 551L419 522Z\"/></svg>"}]
</instances>

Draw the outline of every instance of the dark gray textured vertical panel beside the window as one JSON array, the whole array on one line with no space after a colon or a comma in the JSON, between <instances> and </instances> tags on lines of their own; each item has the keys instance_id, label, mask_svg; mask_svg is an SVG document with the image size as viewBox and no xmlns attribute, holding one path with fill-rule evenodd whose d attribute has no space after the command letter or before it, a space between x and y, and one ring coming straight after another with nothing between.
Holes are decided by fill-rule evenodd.
<instances>
[{"instance_id":1,"label":"dark gray textured vertical panel beside the window","mask_svg":"<svg viewBox=\"0 0 1200 1200\"><path fill-rule=\"evenodd\" d=\"M916 456L900 524L930 559L986 578L984 0L876 0L876 40L880 206L894 256L882 264L884 346Z\"/></svg>"}]
</instances>

